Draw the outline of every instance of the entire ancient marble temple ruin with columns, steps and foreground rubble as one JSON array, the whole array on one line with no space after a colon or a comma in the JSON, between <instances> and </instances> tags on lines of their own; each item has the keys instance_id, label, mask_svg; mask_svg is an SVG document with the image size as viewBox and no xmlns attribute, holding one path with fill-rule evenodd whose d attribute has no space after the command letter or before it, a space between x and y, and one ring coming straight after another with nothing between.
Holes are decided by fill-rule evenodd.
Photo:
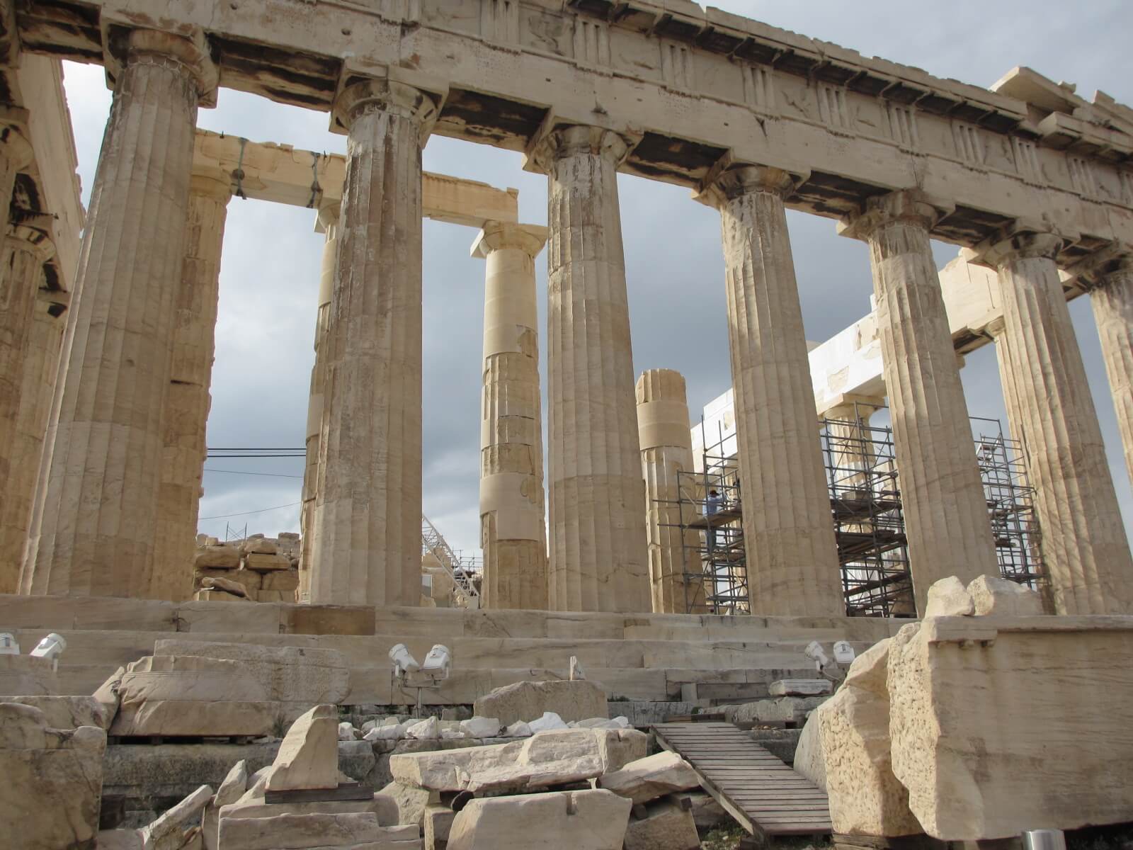
<instances>
[{"instance_id":1,"label":"entire ancient marble temple ruin with columns, steps and foreground rubble","mask_svg":"<svg viewBox=\"0 0 1133 850\"><path fill-rule=\"evenodd\" d=\"M65 59L113 92L85 210ZM1133 823L1133 560L1067 308L1133 475L1130 108L690 0L0 0L0 847ZM347 154L198 129L220 87L327 113ZM424 172L432 135L522 152L546 221ZM634 375L619 173L718 211L718 443L680 373ZM233 196L325 241L301 528L219 541ZM869 246L874 309L817 347L787 210ZM421 516L423 218L484 260L483 570ZM995 444L960 380L987 343Z\"/></svg>"}]
</instances>

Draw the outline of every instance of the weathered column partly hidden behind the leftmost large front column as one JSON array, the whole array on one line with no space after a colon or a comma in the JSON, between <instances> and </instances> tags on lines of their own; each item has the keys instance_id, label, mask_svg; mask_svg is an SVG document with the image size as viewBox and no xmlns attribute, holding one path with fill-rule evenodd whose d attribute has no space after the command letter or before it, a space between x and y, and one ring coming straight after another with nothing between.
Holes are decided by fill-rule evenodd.
<instances>
[{"instance_id":1,"label":"weathered column partly hidden behind the leftmost large front column","mask_svg":"<svg viewBox=\"0 0 1133 850\"><path fill-rule=\"evenodd\" d=\"M173 358L162 414L163 447L150 596L180 602L193 595L193 554L204 478L205 424L216 351L216 304L224 220L232 197L222 171L194 171L177 290Z\"/></svg>"}]
</instances>

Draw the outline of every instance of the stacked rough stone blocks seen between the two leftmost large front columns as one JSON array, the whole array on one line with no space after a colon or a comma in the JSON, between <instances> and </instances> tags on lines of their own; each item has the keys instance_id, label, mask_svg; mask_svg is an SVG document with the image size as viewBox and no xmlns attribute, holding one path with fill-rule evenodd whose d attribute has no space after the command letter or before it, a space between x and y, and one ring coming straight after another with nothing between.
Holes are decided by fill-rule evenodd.
<instances>
[{"instance_id":1,"label":"stacked rough stone blocks seen between the two leftmost large front columns","mask_svg":"<svg viewBox=\"0 0 1133 850\"><path fill-rule=\"evenodd\" d=\"M193 560L194 598L206 602L296 602L299 535L254 534L221 542L197 535Z\"/></svg>"}]
</instances>

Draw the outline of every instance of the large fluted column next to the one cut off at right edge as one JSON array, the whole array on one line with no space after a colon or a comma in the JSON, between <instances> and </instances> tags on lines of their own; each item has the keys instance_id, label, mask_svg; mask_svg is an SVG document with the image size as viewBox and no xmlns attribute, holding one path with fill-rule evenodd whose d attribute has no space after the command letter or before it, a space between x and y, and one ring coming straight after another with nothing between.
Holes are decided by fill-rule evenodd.
<instances>
[{"instance_id":1,"label":"large fluted column next to the one cut off at right edge","mask_svg":"<svg viewBox=\"0 0 1133 850\"><path fill-rule=\"evenodd\" d=\"M1003 297L999 374L1034 487L1055 612L1130 613L1133 559L1054 261L1060 246L1020 232L981 248Z\"/></svg>"}]
</instances>

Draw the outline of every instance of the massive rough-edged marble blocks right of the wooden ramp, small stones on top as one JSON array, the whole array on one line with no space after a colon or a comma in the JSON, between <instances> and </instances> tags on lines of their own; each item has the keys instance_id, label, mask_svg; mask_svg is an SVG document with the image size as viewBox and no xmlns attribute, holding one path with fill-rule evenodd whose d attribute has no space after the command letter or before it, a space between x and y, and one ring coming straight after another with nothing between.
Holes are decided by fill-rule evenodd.
<instances>
[{"instance_id":1,"label":"massive rough-edged marble blocks right of the wooden ramp, small stones on top","mask_svg":"<svg viewBox=\"0 0 1133 850\"><path fill-rule=\"evenodd\" d=\"M1002 578L943 579L922 622L853 662L794 757L835 833L980 841L1133 822L1133 672L1118 661L1133 618L1042 611Z\"/></svg>"}]
</instances>

